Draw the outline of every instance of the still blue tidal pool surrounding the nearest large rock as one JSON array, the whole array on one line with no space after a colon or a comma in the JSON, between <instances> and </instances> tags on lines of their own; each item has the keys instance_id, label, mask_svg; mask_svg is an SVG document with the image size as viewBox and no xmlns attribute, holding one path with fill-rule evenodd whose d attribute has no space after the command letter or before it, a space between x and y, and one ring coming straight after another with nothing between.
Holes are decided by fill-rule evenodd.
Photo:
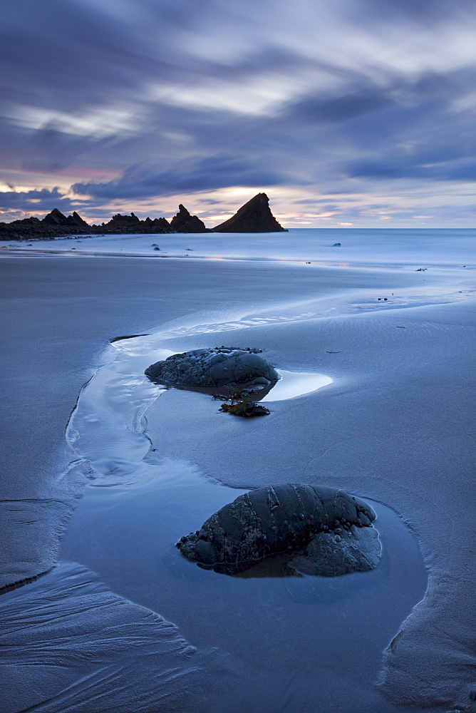
<instances>
[{"instance_id":1,"label":"still blue tidal pool surrounding the nearest large rock","mask_svg":"<svg viewBox=\"0 0 476 713\"><path fill-rule=\"evenodd\" d=\"M273 671L325 677L330 668L371 686L383 650L427 586L418 544L396 513L369 501L383 546L371 572L298 578L262 568L229 577L190 563L175 542L245 491L209 481L186 461L151 467L155 480L142 487L87 488L61 559L160 612L199 648L220 647Z\"/></svg>"}]
</instances>

